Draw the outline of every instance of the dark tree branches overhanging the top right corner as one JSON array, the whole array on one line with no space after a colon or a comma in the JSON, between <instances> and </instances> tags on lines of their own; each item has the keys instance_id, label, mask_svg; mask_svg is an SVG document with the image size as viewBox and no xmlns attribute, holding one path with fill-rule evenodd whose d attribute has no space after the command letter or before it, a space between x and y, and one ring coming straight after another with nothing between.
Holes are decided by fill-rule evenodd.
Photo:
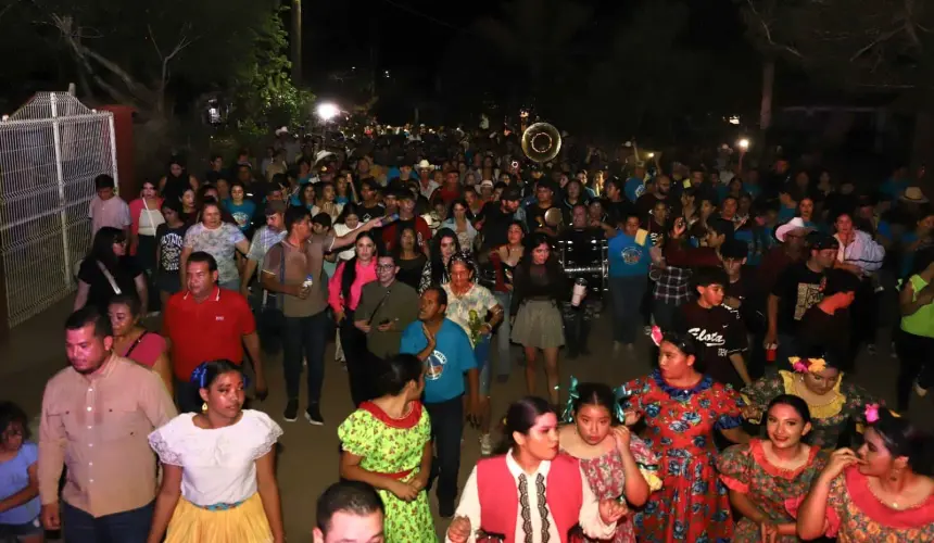
<instances>
[{"instance_id":1,"label":"dark tree branches overhanging the top right corner","mask_svg":"<svg viewBox=\"0 0 934 543\"><path fill-rule=\"evenodd\" d=\"M737 0L767 59L784 59L848 92L917 104L914 155L934 135L934 5L919 0ZM765 100L763 100L765 101Z\"/></svg>"}]
</instances>

